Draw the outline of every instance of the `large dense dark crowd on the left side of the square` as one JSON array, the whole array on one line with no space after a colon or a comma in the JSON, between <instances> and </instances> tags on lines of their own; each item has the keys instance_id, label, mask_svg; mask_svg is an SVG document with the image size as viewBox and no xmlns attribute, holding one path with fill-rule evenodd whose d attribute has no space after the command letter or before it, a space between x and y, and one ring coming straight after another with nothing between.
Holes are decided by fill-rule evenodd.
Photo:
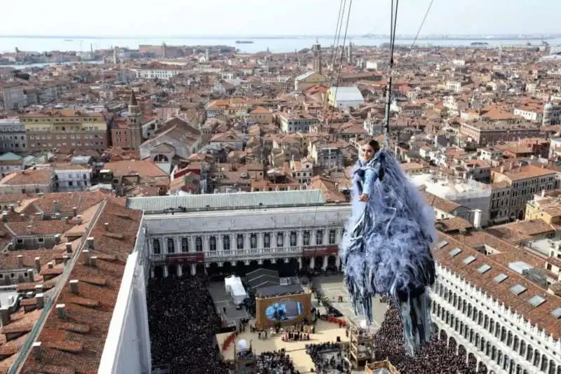
<instances>
[{"instance_id":1,"label":"large dense dark crowd on the left side of the square","mask_svg":"<svg viewBox=\"0 0 561 374\"><path fill-rule=\"evenodd\" d=\"M153 364L172 373L226 374L215 334L220 319L203 279L150 279L147 303Z\"/></svg>"}]
</instances>

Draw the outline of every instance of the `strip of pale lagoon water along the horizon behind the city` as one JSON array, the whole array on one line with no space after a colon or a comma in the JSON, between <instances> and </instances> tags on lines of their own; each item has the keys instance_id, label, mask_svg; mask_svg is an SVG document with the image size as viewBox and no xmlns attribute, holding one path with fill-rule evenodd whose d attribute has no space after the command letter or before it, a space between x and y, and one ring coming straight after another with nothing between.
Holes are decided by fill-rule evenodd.
<instances>
[{"instance_id":1,"label":"strip of pale lagoon water along the horizon behind the city","mask_svg":"<svg viewBox=\"0 0 561 374\"><path fill-rule=\"evenodd\" d=\"M244 39L245 40L245 39ZM207 38L149 38L149 39L135 39L135 38L100 38L100 39L73 39L68 38L14 38L0 36L0 52L13 52L15 48L26 51L44 52L50 50L74 50L77 52L87 51L90 48L106 49L111 47L128 47L138 48L140 44L161 45L165 43L168 46L232 46L238 48L241 52L256 53L265 51L267 48L272 53L290 53L294 50L301 50L302 48L310 48L316 41L313 37L302 38L289 38L289 39L247 39L252 40L252 44L236 44L236 39L207 39ZM322 46L332 46L333 38L320 38L318 39ZM361 37L347 38L346 44L351 41L356 46L379 46L382 43L387 43L387 39L369 39ZM478 42L486 42L489 47L497 46L522 46L526 43L538 45L540 41L525 41L525 40L497 40L486 39L477 40ZM469 46L473 40L428 40L422 39L417 41L417 46ZM342 41L339 42L341 44ZM398 44L410 45L412 41L398 40ZM550 45L561 44L561 39L548 40Z\"/></svg>"}]
</instances>

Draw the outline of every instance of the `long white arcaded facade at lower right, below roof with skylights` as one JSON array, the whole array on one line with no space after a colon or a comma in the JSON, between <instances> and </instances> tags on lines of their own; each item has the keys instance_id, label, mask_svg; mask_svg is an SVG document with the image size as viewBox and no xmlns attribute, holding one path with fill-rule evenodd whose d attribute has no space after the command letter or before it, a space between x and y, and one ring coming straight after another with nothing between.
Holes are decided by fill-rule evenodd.
<instances>
[{"instance_id":1,"label":"long white arcaded facade at lower right, below roof with skylights","mask_svg":"<svg viewBox=\"0 0 561 374\"><path fill-rule=\"evenodd\" d=\"M439 338L454 338L489 373L561 374L560 340L440 265L437 275L431 310Z\"/></svg>"}]
</instances>

